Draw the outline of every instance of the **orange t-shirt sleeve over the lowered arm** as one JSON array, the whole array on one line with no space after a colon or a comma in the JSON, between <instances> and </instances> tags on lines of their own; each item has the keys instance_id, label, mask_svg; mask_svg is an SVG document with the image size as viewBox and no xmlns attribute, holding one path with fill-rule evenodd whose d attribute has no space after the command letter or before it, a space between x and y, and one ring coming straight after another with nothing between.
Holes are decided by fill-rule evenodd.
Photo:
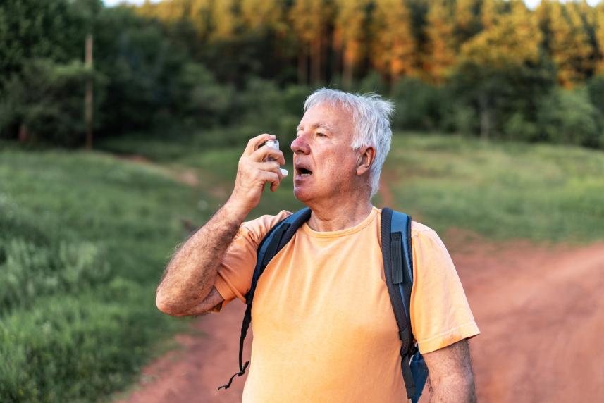
<instances>
[{"instance_id":1,"label":"orange t-shirt sleeve over the lowered arm","mask_svg":"<svg viewBox=\"0 0 604 403\"><path fill-rule=\"evenodd\" d=\"M462 283L440 237L425 226L412 234L411 321L424 354L480 334Z\"/></svg>"}]
</instances>

